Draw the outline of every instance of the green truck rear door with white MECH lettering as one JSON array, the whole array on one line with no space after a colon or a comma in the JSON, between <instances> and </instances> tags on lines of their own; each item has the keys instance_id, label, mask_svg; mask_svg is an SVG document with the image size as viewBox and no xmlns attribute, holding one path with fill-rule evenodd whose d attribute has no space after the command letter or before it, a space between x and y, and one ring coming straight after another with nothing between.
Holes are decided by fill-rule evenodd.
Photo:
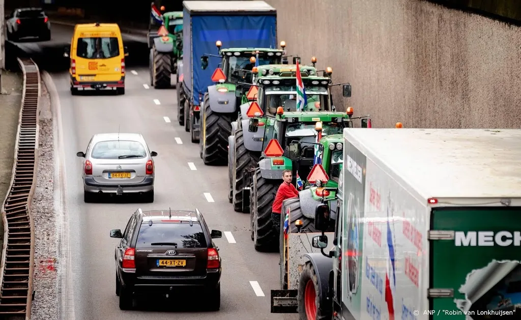
<instances>
[{"instance_id":1,"label":"green truck rear door with white MECH lettering","mask_svg":"<svg viewBox=\"0 0 521 320\"><path fill-rule=\"evenodd\" d=\"M430 238L430 319L519 317L521 207L434 208Z\"/></svg>"}]
</instances>

